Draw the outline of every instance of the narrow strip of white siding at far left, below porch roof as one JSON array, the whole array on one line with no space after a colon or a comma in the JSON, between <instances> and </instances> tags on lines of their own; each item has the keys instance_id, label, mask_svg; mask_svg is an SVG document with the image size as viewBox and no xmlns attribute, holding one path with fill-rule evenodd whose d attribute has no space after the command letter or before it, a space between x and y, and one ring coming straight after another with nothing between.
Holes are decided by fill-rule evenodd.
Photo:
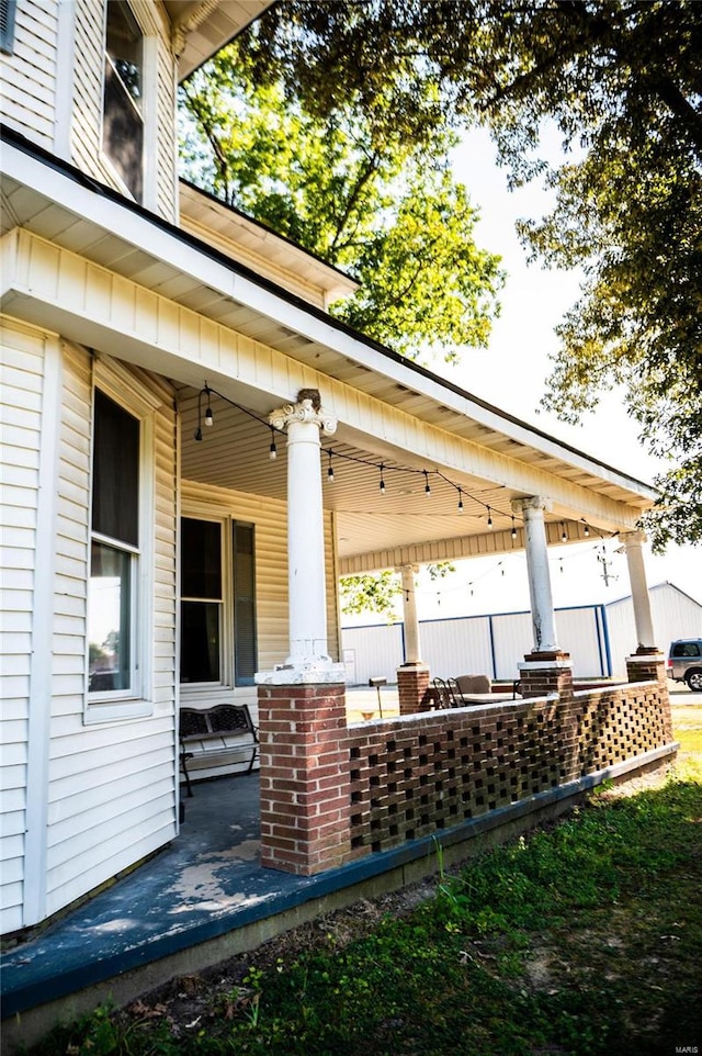
<instances>
[{"instance_id":1,"label":"narrow strip of white siding at far left, below porch roof","mask_svg":"<svg viewBox=\"0 0 702 1056\"><path fill-rule=\"evenodd\" d=\"M0 922L23 923L32 614L39 504L44 336L2 321L2 624L0 625Z\"/></svg>"}]
</instances>

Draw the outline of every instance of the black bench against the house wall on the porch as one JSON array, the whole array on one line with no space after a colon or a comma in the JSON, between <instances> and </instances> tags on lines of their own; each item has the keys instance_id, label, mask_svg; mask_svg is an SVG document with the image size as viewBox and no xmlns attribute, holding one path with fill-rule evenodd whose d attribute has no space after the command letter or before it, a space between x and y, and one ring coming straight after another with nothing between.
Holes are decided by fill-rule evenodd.
<instances>
[{"instance_id":1,"label":"black bench against the house wall on the porch","mask_svg":"<svg viewBox=\"0 0 702 1056\"><path fill-rule=\"evenodd\" d=\"M248 763L250 774L259 753L259 731L246 704L180 709L180 767L188 795L191 771Z\"/></svg>"}]
</instances>

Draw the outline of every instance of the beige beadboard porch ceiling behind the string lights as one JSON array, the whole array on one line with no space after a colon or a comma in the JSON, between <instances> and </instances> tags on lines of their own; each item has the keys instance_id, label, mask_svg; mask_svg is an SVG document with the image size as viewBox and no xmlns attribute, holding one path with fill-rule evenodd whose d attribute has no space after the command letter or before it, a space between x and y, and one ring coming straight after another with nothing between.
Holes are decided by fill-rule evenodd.
<instances>
[{"instance_id":1,"label":"beige beadboard porch ceiling behind the string lights","mask_svg":"<svg viewBox=\"0 0 702 1056\"><path fill-rule=\"evenodd\" d=\"M179 390L182 476L285 503L285 436L275 434L278 457L272 461L272 434L265 416L254 412L253 418L216 394L211 404L214 426L202 426L203 439L196 441L197 392L189 386ZM204 402L201 409L204 415ZM384 493L380 490L381 463ZM329 467L333 482L328 476ZM364 443L347 425L341 424L332 437L322 439L321 479L324 506L336 519L341 574L405 561L457 560L523 548L522 519L513 517L511 510L511 501L523 497L523 492L480 476L457 474L380 440ZM430 495L424 491L427 482ZM587 538L590 527L558 505L546 514L546 523L548 541L554 546L562 544L564 528L568 542L574 542ZM592 537L596 531L592 527Z\"/></svg>"}]
</instances>

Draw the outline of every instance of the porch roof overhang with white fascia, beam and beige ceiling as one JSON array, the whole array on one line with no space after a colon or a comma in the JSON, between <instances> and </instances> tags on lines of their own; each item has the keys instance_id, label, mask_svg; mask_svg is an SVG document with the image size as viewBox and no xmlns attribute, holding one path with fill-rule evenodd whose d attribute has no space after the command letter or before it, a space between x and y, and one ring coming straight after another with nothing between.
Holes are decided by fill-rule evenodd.
<instances>
[{"instance_id":1,"label":"porch roof overhang with white fascia, beam and beige ceiling","mask_svg":"<svg viewBox=\"0 0 702 1056\"><path fill-rule=\"evenodd\" d=\"M363 337L16 134L4 138L3 310L170 378L183 476L214 486L284 501L265 416L319 389L339 419L325 440L336 469L325 504L342 573L519 548L511 501L524 495L550 501L554 543L566 521L569 540L585 523L632 530L653 504L648 485ZM190 442L205 380L258 419L222 403L217 429Z\"/></svg>"}]
</instances>

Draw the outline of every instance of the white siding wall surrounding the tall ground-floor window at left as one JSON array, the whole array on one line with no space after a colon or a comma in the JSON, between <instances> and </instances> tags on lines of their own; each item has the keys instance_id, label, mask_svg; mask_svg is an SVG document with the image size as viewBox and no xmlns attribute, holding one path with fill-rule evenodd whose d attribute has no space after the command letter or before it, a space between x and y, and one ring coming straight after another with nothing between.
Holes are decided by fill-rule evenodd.
<instances>
[{"instance_id":1,"label":"white siding wall surrounding the tall ground-floor window at left","mask_svg":"<svg viewBox=\"0 0 702 1056\"><path fill-rule=\"evenodd\" d=\"M110 371L109 364L105 370ZM155 412L151 711L84 722L91 360L66 347L58 451L55 631L48 763L46 906L50 915L176 834L176 445L173 395L143 371ZM147 581L148 582L148 578ZM150 634L151 629L147 632ZM25 924L32 923L25 920Z\"/></svg>"}]
</instances>

